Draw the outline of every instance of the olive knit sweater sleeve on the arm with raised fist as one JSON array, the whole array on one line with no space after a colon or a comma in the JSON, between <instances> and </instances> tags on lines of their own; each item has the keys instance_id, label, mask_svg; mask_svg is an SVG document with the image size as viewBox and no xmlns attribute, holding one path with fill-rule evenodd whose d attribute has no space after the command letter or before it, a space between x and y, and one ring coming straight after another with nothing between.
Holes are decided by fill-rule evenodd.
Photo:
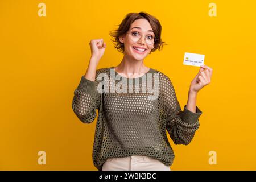
<instances>
[{"instance_id":1,"label":"olive knit sweater sleeve on the arm with raised fist","mask_svg":"<svg viewBox=\"0 0 256 182\"><path fill-rule=\"evenodd\" d=\"M96 71L96 79L97 79ZM83 123L92 123L96 118L96 109L100 109L102 94L97 91L99 81L90 81L81 77L80 83L74 91L72 109L77 118Z\"/></svg>"}]
</instances>

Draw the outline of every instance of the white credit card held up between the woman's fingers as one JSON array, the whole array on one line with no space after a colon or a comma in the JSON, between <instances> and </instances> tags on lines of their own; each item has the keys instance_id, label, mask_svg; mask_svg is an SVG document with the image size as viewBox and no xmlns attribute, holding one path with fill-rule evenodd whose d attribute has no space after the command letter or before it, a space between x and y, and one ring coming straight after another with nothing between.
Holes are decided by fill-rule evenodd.
<instances>
[{"instance_id":1,"label":"white credit card held up between the woman's fingers","mask_svg":"<svg viewBox=\"0 0 256 182\"><path fill-rule=\"evenodd\" d=\"M204 64L204 55L185 52L183 64L201 67Z\"/></svg>"}]
</instances>

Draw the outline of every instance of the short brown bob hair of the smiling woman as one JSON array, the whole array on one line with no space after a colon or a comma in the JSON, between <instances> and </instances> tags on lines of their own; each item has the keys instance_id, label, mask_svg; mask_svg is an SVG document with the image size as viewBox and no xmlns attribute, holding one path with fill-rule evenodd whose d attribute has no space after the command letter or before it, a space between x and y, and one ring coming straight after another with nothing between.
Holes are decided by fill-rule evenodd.
<instances>
[{"instance_id":1,"label":"short brown bob hair of the smiling woman","mask_svg":"<svg viewBox=\"0 0 256 182\"><path fill-rule=\"evenodd\" d=\"M146 19L155 34L155 43L154 48L152 48L151 52L154 52L156 49L159 51L163 48L163 44L166 44L161 39L161 31L162 26L158 19L156 19L154 16L146 13L146 12L140 12L140 13L129 13L125 16L125 18L122 20L121 24L117 25L119 26L117 30L110 31L110 36L114 38L113 43L115 44L114 48L116 48L119 52L125 51L125 45L119 41L119 37L126 34L127 31L129 31L131 23L133 23L137 19ZM166 44L167 45L167 44ZM150 52L150 53L151 53Z\"/></svg>"}]
</instances>

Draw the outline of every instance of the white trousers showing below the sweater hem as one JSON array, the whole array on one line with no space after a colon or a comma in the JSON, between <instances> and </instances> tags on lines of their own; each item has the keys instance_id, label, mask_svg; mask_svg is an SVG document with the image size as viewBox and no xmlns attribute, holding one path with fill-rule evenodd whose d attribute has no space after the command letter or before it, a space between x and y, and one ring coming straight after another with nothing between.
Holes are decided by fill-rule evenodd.
<instances>
[{"instance_id":1,"label":"white trousers showing below the sweater hem","mask_svg":"<svg viewBox=\"0 0 256 182\"><path fill-rule=\"evenodd\" d=\"M110 158L102 166L102 171L171 171L160 160L150 156L131 155L125 158Z\"/></svg>"}]
</instances>

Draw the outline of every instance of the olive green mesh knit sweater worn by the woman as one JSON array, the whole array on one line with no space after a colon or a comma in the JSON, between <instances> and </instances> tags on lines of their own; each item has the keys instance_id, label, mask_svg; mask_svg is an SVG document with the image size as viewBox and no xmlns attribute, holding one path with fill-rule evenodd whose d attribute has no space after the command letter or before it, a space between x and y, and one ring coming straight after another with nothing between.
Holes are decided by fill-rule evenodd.
<instances>
[{"instance_id":1,"label":"olive green mesh knit sweater worn by the woman","mask_svg":"<svg viewBox=\"0 0 256 182\"><path fill-rule=\"evenodd\" d=\"M108 78L98 80L100 73L105 73ZM159 88L155 99L148 97L154 95L143 79L148 75L152 77L151 88ZM125 80L126 84L118 86L118 82ZM131 80L133 82L129 82ZM158 85L155 85L157 80ZM104 92L98 92L97 88L104 89ZM127 92L120 92L125 88ZM112 93L111 89L116 91ZM136 89L139 92L135 92ZM83 123L92 123L98 110L93 164L100 171L106 159L130 155L151 156L171 166L174 151L166 131L175 144L187 145L199 128L201 110L196 106L196 113L193 113L185 106L182 111L170 78L152 68L138 78L123 77L113 67L97 69L95 81L81 77L72 101L72 109Z\"/></svg>"}]
</instances>

